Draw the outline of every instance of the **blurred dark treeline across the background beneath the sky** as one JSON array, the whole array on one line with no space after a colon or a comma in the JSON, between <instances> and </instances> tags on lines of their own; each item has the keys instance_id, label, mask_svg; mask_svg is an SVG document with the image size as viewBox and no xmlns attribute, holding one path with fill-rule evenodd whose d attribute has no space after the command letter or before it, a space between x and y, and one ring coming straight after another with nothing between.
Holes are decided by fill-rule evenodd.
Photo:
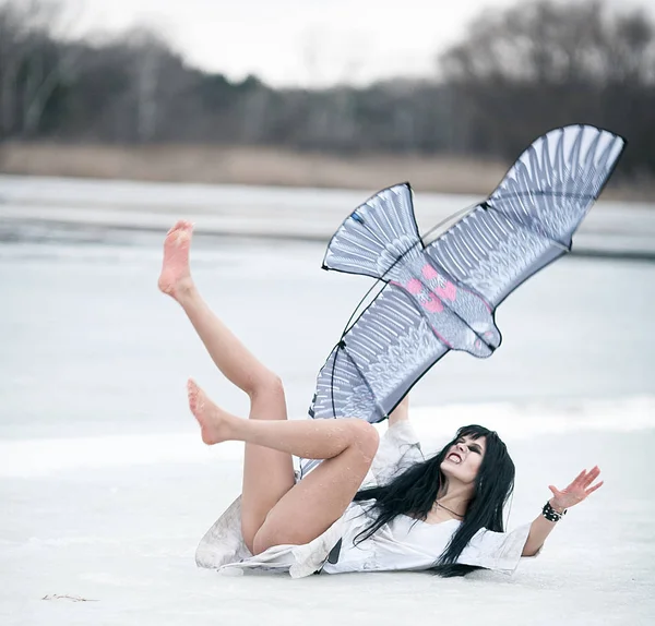
<instances>
[{"instance_id":1,"label":"blurred dark treeline across the background beneath the sky","mask_svg":"<svg viewBox=\"0 0 655 626\"><path fill-rule=\"evenodd\" d=\"M203 72L157 35L57 36L61 8L0 4L0 141L217 143L334 153L514 157L552 127L630 141L623 173L655 173L655 25L600 1L485 12L433 77L275 89Z\"/></svg>"}]
</instances>

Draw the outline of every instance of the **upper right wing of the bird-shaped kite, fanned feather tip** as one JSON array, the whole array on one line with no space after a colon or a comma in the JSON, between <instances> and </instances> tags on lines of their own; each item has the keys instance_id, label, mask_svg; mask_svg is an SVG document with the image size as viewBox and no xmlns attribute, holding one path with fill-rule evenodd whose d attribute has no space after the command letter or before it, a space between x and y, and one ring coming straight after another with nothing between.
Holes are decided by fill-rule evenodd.
<instances>
[{"instance_id":1,"label":"upper right wing of the bird-shaped kite, fanned feather tip","mask_svg":"<svg viewBox=\"0 0 655 626\"><path fill-rule=\"evenodd\" d=\"M540 136L489 198L427 253L496 309L519 285L571 250L573 233L603 191L624 143L588 125Z\"/></svg>"}]
</instances>

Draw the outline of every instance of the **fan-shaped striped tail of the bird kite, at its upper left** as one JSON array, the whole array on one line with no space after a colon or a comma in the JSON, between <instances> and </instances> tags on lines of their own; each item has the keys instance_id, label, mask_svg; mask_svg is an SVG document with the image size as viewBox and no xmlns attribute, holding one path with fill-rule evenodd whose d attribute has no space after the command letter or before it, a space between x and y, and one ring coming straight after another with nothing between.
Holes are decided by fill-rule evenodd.
<instances>
[{"instance_id":1,"label":"fan-shaped striped tail of the bird kite, at its upper left","mask_svg":"<svg viewBox=\"0 0 655 626\"><path fill-rule=\"evenodd\" d=\"M323 269L391 280L401 269L398 262L422 249L409 183L396 184L346 218L327 245Z\"/></svg>"}]
</instances>

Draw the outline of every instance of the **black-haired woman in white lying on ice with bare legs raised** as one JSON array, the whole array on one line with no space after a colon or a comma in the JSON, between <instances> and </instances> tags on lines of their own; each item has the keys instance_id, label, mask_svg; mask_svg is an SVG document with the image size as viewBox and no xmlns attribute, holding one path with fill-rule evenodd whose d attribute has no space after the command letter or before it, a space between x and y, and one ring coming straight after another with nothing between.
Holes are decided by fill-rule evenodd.
<instances>
[{"instance_id":1,"label":"black-haired woman in white lying on ice with bare legs raised","mask_svg":"<svg viewBox=\"0 0 655 626\"><path fill-rule=\"evenodd\" d=\"M184 310L223 374L250 398L249 419L229 414L189 381L189 404L207 445L246 443L242 495L207 532L200 565L221 570L513 571L534 556L571 506L603 483L582 471L528 525L504 532L514 465L495 432L472 425L424 459L407 401L378 431L357 419L287 420L279 378L212 313L189 269L192 226L179 221L164 245L159 288ZM293 457L324 459L296 481ZM370 474L369 474L369 470ZM362 486L364 485L364 486Z\"/></svg>"}]
</instances>

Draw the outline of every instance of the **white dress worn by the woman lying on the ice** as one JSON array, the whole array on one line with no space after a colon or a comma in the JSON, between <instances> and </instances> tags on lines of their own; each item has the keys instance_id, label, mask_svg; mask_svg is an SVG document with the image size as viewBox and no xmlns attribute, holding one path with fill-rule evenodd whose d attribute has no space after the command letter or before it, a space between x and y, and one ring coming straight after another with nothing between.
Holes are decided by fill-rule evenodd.
<instances>
[{"instance_id":1,"label":"white dress worn by the woman lying on the ice","mask_svg":"<svg viewBox=\"0 0 655 626\"><path fill-rule=\"evenodd\" d=\"M407 421L390 426L380 441L371 472L365 484L384 484L396 473L424 460L414 429ZM430 568L445 550L460 521L430 525L400 515L365 541L357 535L369 526L367 503L352 503L325 532L302 545L276 545L253 556L241 535L240 496L206 532L195 552L200 567L222 574L289 573L294 578L317 571L420 570ZM529 525L511 532L479 530L468 542L457 563L512 573L519 565ZM338 561L327 563L331 550L342 541Z\"/></svg>"}]
</instances>

